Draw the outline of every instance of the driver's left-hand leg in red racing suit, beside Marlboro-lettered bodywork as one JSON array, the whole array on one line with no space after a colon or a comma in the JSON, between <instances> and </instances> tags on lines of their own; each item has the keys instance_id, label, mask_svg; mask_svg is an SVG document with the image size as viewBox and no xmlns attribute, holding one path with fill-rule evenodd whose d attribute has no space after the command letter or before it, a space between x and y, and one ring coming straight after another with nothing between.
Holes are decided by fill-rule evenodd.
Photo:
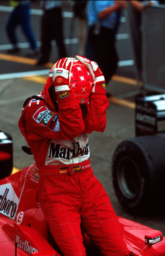
<instances>
[{"instance_id":1,"label":"driver's left-hand leg in red racing suit, beside Marlboro-lettered bodywork","mask_svg":"<svg viewBox=\"0 0 165 256\"><path fill-rule=\"evenodd\" d=\"M80 229L81 191L71 175L42 180L40 204L50 231L64 256L86 256Z\"/></svg>"}]
</instances>

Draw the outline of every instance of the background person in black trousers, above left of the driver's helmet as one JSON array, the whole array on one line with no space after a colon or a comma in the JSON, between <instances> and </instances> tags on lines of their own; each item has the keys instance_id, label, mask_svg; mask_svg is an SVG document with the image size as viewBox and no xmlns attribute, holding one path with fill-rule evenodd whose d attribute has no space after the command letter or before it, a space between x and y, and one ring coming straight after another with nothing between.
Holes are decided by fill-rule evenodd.
<instances>
[{"instance_id":1,"label":"background person in black trousers, above left of the driver's helmet","mask_svg":"<svg viewBox=\"0 0 165 256\"><path fill-rule=\"evenodd\" d=\"M63 17L61 9L62 1L40 1L41 8L44 10L41 19L41 48L40 57L36 66L46 64L50 58L51 41L55 40L58 47L58 55L54 60L66 56L63 38Z\"/></svg>"}]
</instances>

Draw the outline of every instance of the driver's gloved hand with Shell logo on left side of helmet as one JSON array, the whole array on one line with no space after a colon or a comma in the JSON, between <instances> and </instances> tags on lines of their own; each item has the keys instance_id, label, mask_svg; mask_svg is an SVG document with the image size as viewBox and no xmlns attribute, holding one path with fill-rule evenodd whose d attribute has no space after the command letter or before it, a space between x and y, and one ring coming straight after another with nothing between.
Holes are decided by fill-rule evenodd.
<instances>
[{"instance_id":1,"label":"driver's gloved hand with Shell logo on left side of helmet","mask_svg":"<svg viewBox=\"0 0 165 256\"><path fill-rule=\"evenodd\" d=\"M55 91L69 90L70 71L73 61L70 58L62 58L49 71L49 78L54 84Z\"/></svg>"}]
</instances>

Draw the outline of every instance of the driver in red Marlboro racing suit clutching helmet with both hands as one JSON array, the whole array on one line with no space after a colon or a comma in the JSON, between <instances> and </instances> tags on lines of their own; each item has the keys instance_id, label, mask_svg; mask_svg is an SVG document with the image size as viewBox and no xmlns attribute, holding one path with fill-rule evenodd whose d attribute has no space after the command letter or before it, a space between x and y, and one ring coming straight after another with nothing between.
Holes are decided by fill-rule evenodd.
<instances>
[{"instance_id":1,"label":"driver in red Marlboro racing suit clutching helmet with both hands","mask_svg":"<svg viewBox=\"0 0 165 256\"><path fill-rule=\"evenodd\" d=\"M88 134L105 130L104 76L94 61L62 58L23 105L19 128L39 169L39 199L64 256L85 256L85 233L103 256L128 256L119 221L93 175ZM101 170L100 170L101 171Z\"/></svg>"}]
</instances>

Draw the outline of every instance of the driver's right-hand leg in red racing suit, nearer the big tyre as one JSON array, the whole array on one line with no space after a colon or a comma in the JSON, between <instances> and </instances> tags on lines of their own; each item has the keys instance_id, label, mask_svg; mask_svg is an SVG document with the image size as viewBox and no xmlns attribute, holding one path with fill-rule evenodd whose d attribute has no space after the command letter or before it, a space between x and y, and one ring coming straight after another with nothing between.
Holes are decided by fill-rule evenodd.
<instances>
[{"instance_id":1,"label":"driver's right-hand leg in red racing suit, nearer the big tyre","mask_svg":"<svg viewBox=\"0 0 165 256\"><path fill-rule=\"evenodd\" d=\"M85 186L80 212L85 232L102 256L128 256L117 215L104 188L94 175Z\"/></svg>"}]
</instances>

